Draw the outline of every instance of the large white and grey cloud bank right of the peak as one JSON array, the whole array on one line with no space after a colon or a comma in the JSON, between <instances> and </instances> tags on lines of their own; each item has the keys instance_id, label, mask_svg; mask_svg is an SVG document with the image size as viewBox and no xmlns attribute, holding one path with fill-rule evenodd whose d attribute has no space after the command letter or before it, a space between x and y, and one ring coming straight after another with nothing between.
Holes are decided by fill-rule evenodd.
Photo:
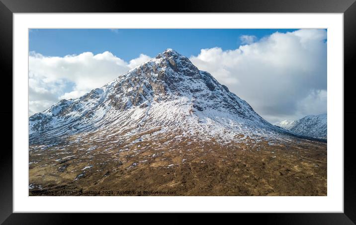
<instances>
[{"instance_id":1,"label":"large white and grey cloud bank right of the peak","mask_svg":"<svg viewBox=\"0 0 356 225\"><path fill-rule=\"evenodd\" d=\"M235 50L202 49L190 60L268 121L299 119L326 112L326 38L321 29L276 32Z\"/></svg>"}]
</instances>

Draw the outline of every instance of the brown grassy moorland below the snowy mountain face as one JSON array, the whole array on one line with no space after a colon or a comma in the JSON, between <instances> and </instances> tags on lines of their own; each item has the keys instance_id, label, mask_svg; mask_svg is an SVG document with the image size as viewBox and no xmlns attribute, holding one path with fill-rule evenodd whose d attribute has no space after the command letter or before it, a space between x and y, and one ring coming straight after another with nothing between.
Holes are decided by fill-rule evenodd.
<instances>
[{"instance_id":1,"label":"brown grassy moorland below the snowy mountain face","mask_svg":"<svg viewBox=\"0 0 356 225\"><path fill-rule=\"evenodd\" d=\"M247 143L221 144L174 136L132 143L139 137L134 136L114 144L107 144L114 138L106 144L87 139L46 150L32 146L29 194L100 190L100 195L119 195L117 191L135 190L141 195L172 191L170 195L178 196L327 195L324 143L296 139L268 144L247 139Z\"/></svg>"}]
</instances>

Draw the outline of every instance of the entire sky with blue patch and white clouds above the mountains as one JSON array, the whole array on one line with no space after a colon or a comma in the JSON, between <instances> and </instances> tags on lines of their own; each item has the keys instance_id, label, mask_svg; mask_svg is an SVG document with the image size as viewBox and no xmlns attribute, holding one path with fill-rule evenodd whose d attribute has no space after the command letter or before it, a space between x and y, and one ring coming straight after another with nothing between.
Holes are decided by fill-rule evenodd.
<instances>
[{"instance_id":1,"label":"entire sky with blue patch and white clouds above the mountains","mask_svg":"<svg viewBox=\"0 0 356 225\"><path fill-rule=\"evenodd\" d=\"M325 29L32 29L29 115L101 87L168 48L271 123L326 113L326 40Z\"/></svg>"}]
</instances>

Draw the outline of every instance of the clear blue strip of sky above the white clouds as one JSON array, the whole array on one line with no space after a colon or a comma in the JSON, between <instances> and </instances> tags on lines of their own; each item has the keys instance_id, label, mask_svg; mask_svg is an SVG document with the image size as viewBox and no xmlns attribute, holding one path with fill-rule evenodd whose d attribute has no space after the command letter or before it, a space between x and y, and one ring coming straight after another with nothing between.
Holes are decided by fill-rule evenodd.
<instances>
[{"instance_id":1,"label":"clear blue strip of sky above the white clouds","mask_svg":"<svg viewBox=\"0 0 356 225\"><path fill-rule=\"evenodd\" d=\"M276 31L295 29L32 29L29 50L44 56L66 56L109 51L125 61L141 53L155 57L167 48L184 56L199 54L201 49L236 49L242 35L257 39Z\"/></svg>"}]
</instances>

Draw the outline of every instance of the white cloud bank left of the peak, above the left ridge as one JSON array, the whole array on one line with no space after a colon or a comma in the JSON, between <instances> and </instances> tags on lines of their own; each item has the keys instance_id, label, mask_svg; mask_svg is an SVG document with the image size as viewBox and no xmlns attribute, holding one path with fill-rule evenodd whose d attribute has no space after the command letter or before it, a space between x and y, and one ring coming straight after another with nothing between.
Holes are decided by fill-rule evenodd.
<instances>
[{"instance_id":1,"label":"white cloud bank left of the peak, above the left ridge","mask_svg":"<svg viewBox=\"0 0 356 225\"><path fill-rule=\"evenodd\" d=\"M127 63L110 52L97 55L85 52L65 57L46 57L31 52L29 115L41 112L61 99L80 97L149 59L141 54Z\"/></svg>"}]
</instances>

